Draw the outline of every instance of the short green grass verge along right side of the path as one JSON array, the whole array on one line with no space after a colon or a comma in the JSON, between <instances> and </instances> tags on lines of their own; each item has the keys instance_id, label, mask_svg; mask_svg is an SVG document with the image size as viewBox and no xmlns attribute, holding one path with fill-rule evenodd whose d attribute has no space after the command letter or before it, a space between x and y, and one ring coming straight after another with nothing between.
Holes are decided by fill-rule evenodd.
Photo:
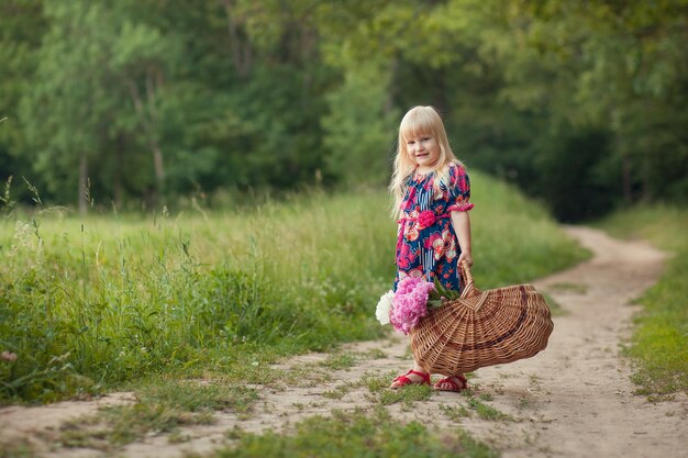
<instances>
[{"instance_id":1,"label":"short green grass verge along right side of the path","mask_svg":"<svg viewBox=\"0 0 688 458\"><path fill-rule=\"evenodd\" d=\"M688 210L637 208L600 226L617 236L645 238L674 254L659 281L640 299L644 310L635 319L628 354L640 362L633 377L639 393L688 393Z\"/></svg>"}]
</instances>

